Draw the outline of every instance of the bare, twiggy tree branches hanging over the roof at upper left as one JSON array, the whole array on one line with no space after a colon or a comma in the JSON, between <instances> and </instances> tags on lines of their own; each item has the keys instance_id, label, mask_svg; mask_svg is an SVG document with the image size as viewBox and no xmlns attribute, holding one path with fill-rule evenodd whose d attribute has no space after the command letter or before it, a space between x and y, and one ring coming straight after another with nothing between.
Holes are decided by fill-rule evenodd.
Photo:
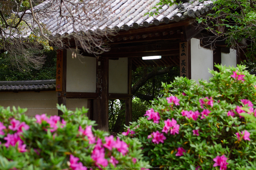
<instances>
[{"instance_id":1,"label":"bare, twiggy tree branches hanging over the roof at upper left","mask_svg":"<svg viewBox=\"0 0 256 170\"><path fill-rule=\"evenodd\" d=\"M45 62L44 52L53 50L53 47L67 48L67 41L71 38L75 46L97 56L109 50L108 46L103 46L105 42L102 39L109 32L79 31L91 28L92 19L103 18L109 10L106 8L108 5L110 2L107 0L0 1L0 52L22 72L31 67L40 69ZM82 13L76 15L81 9ZM87 15L93 9L99 12ZM49 30L49 25L42 24L45 18L56 19L57 26ZM64 34L61 23L71 23L73 33ZM61 32L63 36L57 34Z\"/></svg>"}]
</instances>

